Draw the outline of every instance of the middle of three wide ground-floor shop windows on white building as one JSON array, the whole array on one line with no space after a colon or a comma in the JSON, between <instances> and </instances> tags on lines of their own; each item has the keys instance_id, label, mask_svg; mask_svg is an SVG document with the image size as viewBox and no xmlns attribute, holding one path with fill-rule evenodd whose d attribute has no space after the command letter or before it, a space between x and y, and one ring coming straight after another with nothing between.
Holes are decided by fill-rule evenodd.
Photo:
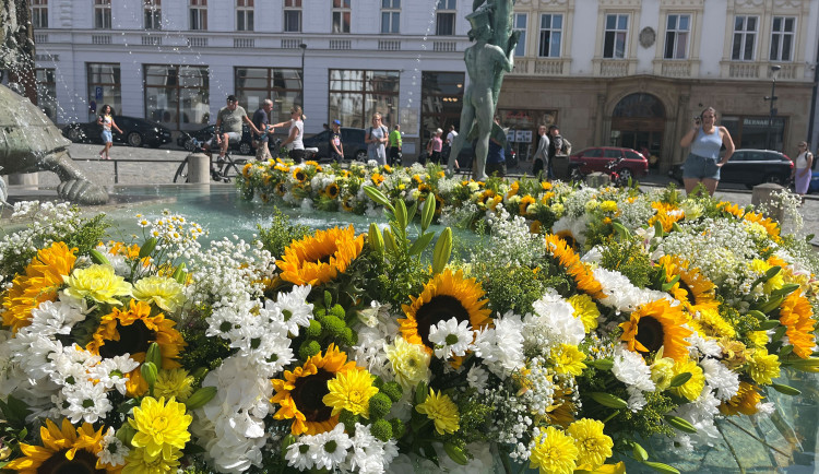
<instances>
[{"instance_id":1,"label":"middle of three wide ground-floor shop windows on white building","mask_svg":"<svg viewBox=\"0 0 819 474\"><path fill-rule=\"evenodd\" d=\"M302 104L300 69L236 68L235 81L239 104L247 104L251 116L262 100L273 100L271 123L289 120L290 107Z\"/></svg>"}]
</instances>

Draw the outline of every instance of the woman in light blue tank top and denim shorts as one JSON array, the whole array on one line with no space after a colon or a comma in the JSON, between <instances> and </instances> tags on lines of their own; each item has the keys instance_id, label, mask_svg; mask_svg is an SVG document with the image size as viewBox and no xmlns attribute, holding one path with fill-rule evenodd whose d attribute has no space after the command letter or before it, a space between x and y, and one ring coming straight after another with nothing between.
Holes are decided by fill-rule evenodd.
<instances>
[{"instance_id":1,"label":"woman in light blue tank top and denim shorts","mask_svg":"<svg viewBox=\"0 0 819 474\"><path fill-rule=\"evenodd\" d=\"M716 110L709 107L693 119L693 127L679 141L679 145L690 146L690 153L682 165L682 182L686 193L699 185L705 187L710 195L714 194L720 182L720 168L734 154L734 141L725 127L715 126ZM725 155L720 159L720 150L725 146Z\"/></svg>"}]
</instances>

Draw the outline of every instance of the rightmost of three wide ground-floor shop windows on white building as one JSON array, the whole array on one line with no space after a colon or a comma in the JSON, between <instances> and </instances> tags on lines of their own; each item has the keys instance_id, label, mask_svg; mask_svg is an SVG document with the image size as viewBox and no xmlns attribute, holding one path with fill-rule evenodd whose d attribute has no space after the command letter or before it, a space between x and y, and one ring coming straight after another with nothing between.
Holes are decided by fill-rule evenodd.
<instances>
[{"instance_id":1,"label":"rightmost of three wide ground-floor shop windows on white building","mask_svg":"<svg viewBox=\"0 0 819 474\"><path fill-rule=\"evenodd\" d=\"M366 128L377 111L384 126L397 123L399 71L330 70L329 117L343 127Z\"/></svg>"}]
</instances>

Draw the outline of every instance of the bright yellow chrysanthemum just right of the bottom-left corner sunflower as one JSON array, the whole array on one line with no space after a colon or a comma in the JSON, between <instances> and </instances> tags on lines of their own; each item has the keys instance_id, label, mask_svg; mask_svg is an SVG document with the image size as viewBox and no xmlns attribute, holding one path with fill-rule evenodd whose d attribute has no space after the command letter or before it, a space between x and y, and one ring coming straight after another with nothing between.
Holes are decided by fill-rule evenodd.
<instances>
[{"instance_id":1,"label":"bright yellow chrysanthemum just right of the bottom-left corner sunflower","mask_svg":"<svg viewBox=\"0 0 819 474\"><path fill-rule=\"evenodd\" d=\"M178 451L190 441L188 426L193 420L185 412L183 403L173 398L165 403L164 396L159 400L145 396L140 406L133 408L133 418L128 418L128 424L136 430L131 445L144 449L146 462L157 458L170 461L180 455Z\"/></svg>"}]
</instances>

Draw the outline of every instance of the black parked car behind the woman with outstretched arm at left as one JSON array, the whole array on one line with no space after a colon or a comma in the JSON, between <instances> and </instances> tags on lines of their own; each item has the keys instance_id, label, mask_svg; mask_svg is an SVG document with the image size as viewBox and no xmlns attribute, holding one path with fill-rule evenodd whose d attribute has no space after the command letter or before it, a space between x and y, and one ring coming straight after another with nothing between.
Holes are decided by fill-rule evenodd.
<instances>
[{"instance_id":1,"label":"black parked car behind the woman with outstretched arm at left","mask_svg":"<svg viewBox=\"0 0 819 474\"><path fill-rule=\"evenodd\" d=\"M111 130L115 143L126 143L131 146L149 145L157 147L170 143L170 129L155 121L139 117L115 115L114 121L122 130ZM96 120L90 122L73 122L62 129L62 134L74 143L103 143L99 137L103 127Z\"/></svg>"}]
</instances>

